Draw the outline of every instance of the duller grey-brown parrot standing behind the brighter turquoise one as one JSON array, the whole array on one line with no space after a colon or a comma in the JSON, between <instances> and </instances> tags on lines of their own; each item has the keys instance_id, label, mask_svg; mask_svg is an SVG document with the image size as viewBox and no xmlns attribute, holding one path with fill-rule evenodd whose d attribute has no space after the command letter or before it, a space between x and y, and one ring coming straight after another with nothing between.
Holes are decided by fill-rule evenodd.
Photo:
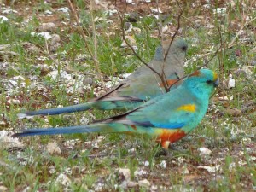
<instances>
[{"instance_id":1,"label":"duller grey-brown parrot standing behind the brighter turquoise one","mask_svg":"<svg viewBox=\"0 0 256 192\"><path fill-rule=\"evenodd\" d=\"M167 84L171 85L176 82L177 79L184 76L184 59L188 44L183 39L177 39L172 42L170 49L168 49L169 45L169 40L164 41L163 44L155 50L154 59L150 61L148 65L153 67L158 73L164 72ZM164 53L168 53L166 60L164 59ZM132 109L143 104L143 102L148 99L160 96L165 92L166 90L158 75L147 66L143 65L134 73L131 73L127 79L95 100L64 108L51 108L19 113L18 116L25 118L34 115L73 113L86 111L90 108L101 110Z\"/></svg>"}]
</instances>

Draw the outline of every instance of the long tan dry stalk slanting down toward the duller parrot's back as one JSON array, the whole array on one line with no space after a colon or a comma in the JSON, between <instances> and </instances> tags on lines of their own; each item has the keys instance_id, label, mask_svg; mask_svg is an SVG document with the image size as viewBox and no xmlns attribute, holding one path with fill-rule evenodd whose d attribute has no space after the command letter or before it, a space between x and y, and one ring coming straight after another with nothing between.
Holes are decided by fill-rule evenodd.
<instances>
[{"instance_id":1,"label":"long tan dry stalk slanting down toward the duller parrot's back","mask_svg":"<svg viewBox=\"0 0 256 192\"><path fill-rule=\"evenodd\" d=\"M76 22L78 24L79 32L82 35L82 37L84 38L84 44L86 46L86 49L89 52L90 57L94 61L94 64L95 64L95 67L96 67L96 71L97 71L97 73L99 75L99 79L101 80L102 84L104 84L103 79L102 79L102 75L101 75L101 71L100 71L100 67L99 67L99 61L96 60L96 55L93 55L92 52L90 51L90 47L89 47L89 45L87 44L87 41L86 41L87 37L86 37L86 35L84 33L84 30L83 30L82 26L80 26L80 24L79 24L79 17L77 15L75 9L73 8L73 3L71 3L70 0L67 0L67 2L69 4L69 7L71 8L71 12L73 14L73 17L74 17L74 19L76 20ZM92 22L94 22L94 20L92 20Z\"/></svg>"}]
</instances>

